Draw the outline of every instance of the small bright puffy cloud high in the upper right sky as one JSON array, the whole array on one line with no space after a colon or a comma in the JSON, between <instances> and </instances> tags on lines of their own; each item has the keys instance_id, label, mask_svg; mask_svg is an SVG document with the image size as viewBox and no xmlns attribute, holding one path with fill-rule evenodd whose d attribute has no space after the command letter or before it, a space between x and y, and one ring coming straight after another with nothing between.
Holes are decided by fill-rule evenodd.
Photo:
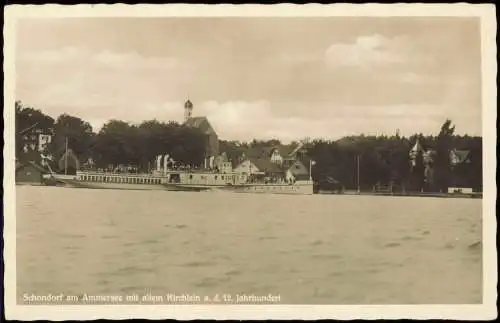
<instances>
[{"instance_id":1,"label":"small bright puffy cloud high in the upper right sky","mask_svg":"<svg viewBox=\"0 0 500 323\"><path fill-rule=\"evenodd\" d=\"M407 59L404 45L405 40L401 37L359 36L354 43L330 45L325 52L325 62L330 67L404 63Z\"/></svg>"}]
</instances>

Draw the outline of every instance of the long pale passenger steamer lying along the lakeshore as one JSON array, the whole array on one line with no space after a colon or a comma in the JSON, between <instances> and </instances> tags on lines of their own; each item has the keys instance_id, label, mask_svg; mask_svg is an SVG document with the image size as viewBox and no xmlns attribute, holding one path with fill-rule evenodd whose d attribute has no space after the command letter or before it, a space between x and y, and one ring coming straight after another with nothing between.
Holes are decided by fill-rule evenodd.
<instances>
[{"instance_id":1,"label":"long pale passenger steamer lying along the lakeshore","mask_svg":"<svg viewBox=\"0 0 500 323\"><path fill-rule=\"evenodd\" d=\"M237 193L313 194L312 181L256 178L245 173L174 171L135 174L77 171L75 175L44 175L46 185L72 188L168 191L229 191Z\"/></svg>"}]
</instances>

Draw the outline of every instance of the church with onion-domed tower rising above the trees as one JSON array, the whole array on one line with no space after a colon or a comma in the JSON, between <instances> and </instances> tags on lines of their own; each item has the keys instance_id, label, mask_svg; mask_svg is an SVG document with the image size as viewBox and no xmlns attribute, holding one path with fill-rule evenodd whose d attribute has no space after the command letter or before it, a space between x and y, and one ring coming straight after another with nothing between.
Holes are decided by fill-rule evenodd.
<instances>
[{"instance_id":1,"label":"church with onion-domed tower rising above the trees","mask_svg":"<svg viewBox=\"0 0 500 323\"><path fill-rule=\"evenodd\" d=\"M193 103L184 103L184 126L197 128L205 135L204 168L214 168L215 158L219 155L219 137L207 117L193 117Z\"/></svg>"}]
</instances>

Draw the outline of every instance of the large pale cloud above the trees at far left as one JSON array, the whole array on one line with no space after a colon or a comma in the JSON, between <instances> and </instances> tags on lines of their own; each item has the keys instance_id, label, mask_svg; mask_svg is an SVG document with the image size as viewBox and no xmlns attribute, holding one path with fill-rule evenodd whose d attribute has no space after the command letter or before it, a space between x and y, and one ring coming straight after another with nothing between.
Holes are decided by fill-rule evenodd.
<instances>
[{"instance_id":1,"label":"large pale cloud above the trees at far left","mask_svg":"<svg viewBox=\"0 0 500 323\"><path fill-rule=\"evenodd\" d=\"M192 75L174 57L76 47L20 53L16 72L17 99L51 114L96 120L134 120L137 110L183 93Z\"/></svg>"}]
</instances>

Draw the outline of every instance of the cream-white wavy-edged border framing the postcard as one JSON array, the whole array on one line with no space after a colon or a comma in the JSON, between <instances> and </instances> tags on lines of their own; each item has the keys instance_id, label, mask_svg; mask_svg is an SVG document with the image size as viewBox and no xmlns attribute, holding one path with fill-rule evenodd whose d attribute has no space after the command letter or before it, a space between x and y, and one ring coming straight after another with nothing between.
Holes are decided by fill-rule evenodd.
<instances>
[{"instance_id":1,"label":"cream-white wavy-edged border framing the postcard","mask_svg":"<svg viewBox=\"0 0 500 323\"><path fill-rule=\"evenodd\" d=\"M494 319L496 309L496 17L493 5L13 5L4 15L4 261L7 319ZM483 104L483 304L481 305L76 305L16 304L14 178L15 28L21 18L56 17L476 16L481 19Z\"/></svg>"}]
</instances>

